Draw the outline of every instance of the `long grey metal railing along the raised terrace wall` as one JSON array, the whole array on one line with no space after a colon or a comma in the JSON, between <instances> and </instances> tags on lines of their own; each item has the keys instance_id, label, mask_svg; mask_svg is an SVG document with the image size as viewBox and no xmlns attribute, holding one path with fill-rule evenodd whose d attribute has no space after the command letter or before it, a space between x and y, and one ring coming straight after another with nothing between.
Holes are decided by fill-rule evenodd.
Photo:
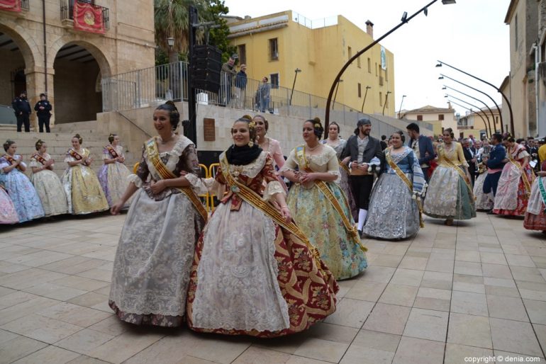
<instances>
[{"instance_id":1,"label":"long grey metal railing along the raised terrace wall","mask_svg":"<svg viewBox=\"0 0 546 364\"><path fill-rule=\"evenodd\" d=\"M101 81L103 111L142 108L167 100L187 101L188 64L176 62L156 67L138 69L124 74L104 78ZM197 90L199 104L227 106L250 112L272 113L299 118L325 118L326 98L289 88L246 79L243 83L233 74L221 73L218 93ZM343 105L333 103L330 120L356 121L362 113ZM391 135L398 130L388 118L368 115L372 119L374 135ZM424 124L433 130L430 124Z\"/></svg>"}]
</instances>

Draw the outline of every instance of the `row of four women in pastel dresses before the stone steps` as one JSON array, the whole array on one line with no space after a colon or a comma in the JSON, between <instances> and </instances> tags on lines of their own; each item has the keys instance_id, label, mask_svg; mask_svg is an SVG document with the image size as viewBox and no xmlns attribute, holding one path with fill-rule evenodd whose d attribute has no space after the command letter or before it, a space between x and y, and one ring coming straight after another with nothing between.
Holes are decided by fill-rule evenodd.
<instances>
[{"instance_id":1,"label":"row of four women in pastel dresses before the stone steps","mask_svg":"<svg viewBox=\"0 0 546 364\"><path fill-rule=\"evenodd\" d=\"M98 178L90 168L93 159L89 149L82 147L83 138L77 134L71 142L64 160L67 169L61 178L52 171L55 160L43 140L35 143L36 152L29 158L30 178L24 174L27 164L17 154L16 142L4 142L6 154L0 157L0 224L100 212L120 200L130 173L123 164L118 135L108 137Z\"/></svg>"}]
</instances>

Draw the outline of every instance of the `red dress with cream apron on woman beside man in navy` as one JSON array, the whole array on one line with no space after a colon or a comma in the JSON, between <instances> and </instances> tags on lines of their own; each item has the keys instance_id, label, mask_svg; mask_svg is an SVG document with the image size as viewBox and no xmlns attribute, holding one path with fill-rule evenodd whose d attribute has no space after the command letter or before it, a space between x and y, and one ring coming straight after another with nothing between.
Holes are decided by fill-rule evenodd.
<instances>
[{"instance_id":1,"label":"red dress with cream apron on woman beside man in navy","mask_svg":"<svg viewBox=\"0 0 546 364\"><path fill-rule=\"evenodd\" d=\"M495 195L493 212L498 215L523 216L533 185L533 171L527 164L523 167L529 153L520 144L506 150L508 163L504 165Z\"/></svg>"}]
</instances>

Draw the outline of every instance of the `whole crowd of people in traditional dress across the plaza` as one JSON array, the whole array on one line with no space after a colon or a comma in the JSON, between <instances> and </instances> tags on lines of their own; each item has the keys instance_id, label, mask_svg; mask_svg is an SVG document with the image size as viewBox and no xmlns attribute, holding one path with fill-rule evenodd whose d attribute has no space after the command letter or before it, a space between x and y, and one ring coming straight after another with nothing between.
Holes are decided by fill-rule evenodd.
<instances>
[{"instance_id":1,"label":"whole crowd of people in traditional dress across the plaza","mask_svg":"<svg viewBox=\"0 0 546 364\"><path fill-rule=\"evenodd\" d=\"M267 118L244 115L231 127L233 144L220 154L216 176L201 178L194 143L175 132L174 103L157 107L152 120L157 137L145 142L135 174L123 166L116 135L98 178L79 135L60 179L41 140L31 181L14 142L0 159L3 222L108 207L117 215L130 205L108 302L124 322L293 334L335 311L338 280L365 271L364 236L406 239L424 226L423 215L452 225L477 210L525 215L525 228L546 230L546 171L535 178L530 163L546 147L509 135L458 142L446 129L433 140L411 123L408 140L397 131L387 144L362 118L348 140L338 123L323 140L315 118L303 123L302 142L285 159L267 136ZM206 193L219 199L212 215L198 197Z\"/></svg>"}]
</instances>

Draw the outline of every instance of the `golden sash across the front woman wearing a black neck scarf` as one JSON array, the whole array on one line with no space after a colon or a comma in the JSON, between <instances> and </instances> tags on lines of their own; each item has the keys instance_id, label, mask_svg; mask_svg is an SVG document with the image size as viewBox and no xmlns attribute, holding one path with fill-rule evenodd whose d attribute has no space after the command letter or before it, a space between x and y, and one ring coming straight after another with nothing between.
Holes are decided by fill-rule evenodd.
<instances>
[{"instance_id":1,"label":"golden sash across the front woman wearing a black neck scarf","mask_svg":"<svg viewBox=\"0 0 546 364\"><path fill-rule=\"evenodd\" d=\"M301 229L296 225L294 220L290 220L290 222L286 222L284 220L284 217L281 215L281 212L277 210L275 207L273 207L271 204L265 202L262 200L260 195L255 193L253 190L245 186L243 183L240 183L237 181L236 178L233 178L233 176L230 174L230 164L228 163L228 158L225 157L225 153L223 155L223 158L220 160L220 165L222 169L222 174L225 177L225 181L230 186L230 190L237 194L240 198L243 198L247 203L252 205L253 207L257 208L258 210L264 212L269 217L273 219L273 221L278 224L279 226L284 227L284 229L288 230L290 234L294 235L294 237L297 237L300 239L303 244L306 244L309 251L311 251L311 254L313 255L313 258L315 258L316 265L318 269L323 272L321 268L321 254L318 253L318 250L311 244L311 241L306 237L306 234L304 234Z\"/></svg>"}]
</instances>

